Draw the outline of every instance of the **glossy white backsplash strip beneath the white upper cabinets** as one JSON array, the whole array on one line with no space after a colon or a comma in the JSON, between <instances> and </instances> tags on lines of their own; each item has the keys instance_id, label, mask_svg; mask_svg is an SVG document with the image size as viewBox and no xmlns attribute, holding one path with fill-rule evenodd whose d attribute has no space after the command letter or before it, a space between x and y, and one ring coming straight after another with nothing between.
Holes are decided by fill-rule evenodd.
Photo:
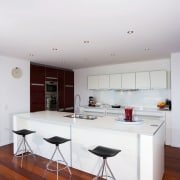
<instances>
[{"instance_id":1,"label":"glossy white backsplash strip beneath the white upper cabinets","mask_svg":"<svg viewBox=\"0 0 180 180\"><path fill-rule=\"evenodd\" d=\"M170 90L137 90L137 91L92 91L96 102L108 105L156 108L159 101L171 99Z\"/></svg>"}]
</instances>

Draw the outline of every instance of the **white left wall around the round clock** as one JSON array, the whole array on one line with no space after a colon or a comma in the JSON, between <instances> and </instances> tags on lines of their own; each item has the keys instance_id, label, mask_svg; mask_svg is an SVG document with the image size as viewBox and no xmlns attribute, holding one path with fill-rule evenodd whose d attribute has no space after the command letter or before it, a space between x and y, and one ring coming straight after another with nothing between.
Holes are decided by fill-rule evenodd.
<instances>
[{"instance_id":1,"label":"white left wall around the round clock","mask_svg":"<svg viewBox=\"0 0 180 180\"><path fill-rule=\"evenodd\" d=\"M21 68L21 78L13 78L11 70ZM30 62L0 56L0 146L12 142L12 116L30 110Z\"/></svg>"}]
</instances>

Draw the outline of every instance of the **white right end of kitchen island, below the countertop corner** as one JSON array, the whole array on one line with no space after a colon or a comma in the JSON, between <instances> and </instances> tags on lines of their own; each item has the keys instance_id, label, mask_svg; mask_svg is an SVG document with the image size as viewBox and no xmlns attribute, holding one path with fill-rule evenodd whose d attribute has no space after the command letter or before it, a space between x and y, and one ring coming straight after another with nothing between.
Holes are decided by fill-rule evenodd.
<instances>
[{"instance_id":1,"label":"white right end of kitchen island, below the countertop corner","mask_svg":"<svg viewBox=\"0 0 180 180\"><path fill-rule=\"evenodd\" d=\"M164 174L165 123L154 136L140 136L140 180L161 180Z\"/></svg>"}]
</instances>

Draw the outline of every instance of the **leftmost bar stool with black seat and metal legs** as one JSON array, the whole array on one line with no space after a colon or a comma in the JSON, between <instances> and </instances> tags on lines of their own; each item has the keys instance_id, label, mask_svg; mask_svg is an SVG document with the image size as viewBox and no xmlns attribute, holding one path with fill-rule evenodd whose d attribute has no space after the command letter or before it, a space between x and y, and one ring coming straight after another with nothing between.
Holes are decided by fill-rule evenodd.
<instances>
[{"instance_id":1,"label":"leftmost bar stool with black seat and metal legs","mask_svg":"<svg viewBox=\"0 0 180 180\"><path fill-rule=\"evenodd\" d=\"M21 142L17 148L17 151L14 154L14 158L15 157L21 157L21 168L22 168L22 163L23 163L24 157L32 155L34 158L36 158L36 156L34 155L32 149L30 147L30 145L28 144L28 142L26 140L26 135L35 133L35 131L30 131L28 129L21 129L18 131L13 130L12 132L14 132L17 135L22 136L22 139L21 139ZM14 158L13 158L13 161L14 161Z\"/></svg>"}]
</instances>

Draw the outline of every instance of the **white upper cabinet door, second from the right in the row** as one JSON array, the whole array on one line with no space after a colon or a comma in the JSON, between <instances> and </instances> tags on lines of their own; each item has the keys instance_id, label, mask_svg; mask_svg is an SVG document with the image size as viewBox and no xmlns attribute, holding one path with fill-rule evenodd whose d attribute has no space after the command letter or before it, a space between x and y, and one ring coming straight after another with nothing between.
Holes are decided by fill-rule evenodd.
<instances>
[{"instance_id":1,"label":"white upper cabinet door, second from the right in the row","mask_svg":"<svg viewBox=\"0 0 180 180\"><path fill-rule=\"evenodd\" d=\"M150 89L150 73L149 72L136 73L136 89Z\"/></svg>"}]
</instances>

